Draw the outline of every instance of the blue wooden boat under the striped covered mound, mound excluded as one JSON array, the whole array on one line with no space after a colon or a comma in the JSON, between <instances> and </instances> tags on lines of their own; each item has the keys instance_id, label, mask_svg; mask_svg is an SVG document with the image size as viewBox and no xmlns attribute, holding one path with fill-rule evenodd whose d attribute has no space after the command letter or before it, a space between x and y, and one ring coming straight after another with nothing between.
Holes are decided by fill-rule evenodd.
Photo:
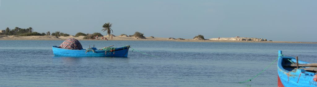
<instances>
[{"instance_id":1,"label":"blue wooden boat under the striped covered mound, mound excluded","mask_svg":"<svg viewBox=\"0 0 317 87\"><path fill-rule=\"evenodd\" d=\"M58 46L53 46L53 53L55 56L74 56L74 57L83 57L83 56L94 56L94 57L128 57L128 51L130 46L124 46L120 48L113 49L62 49Z\"/></svg>"}]
</instances>

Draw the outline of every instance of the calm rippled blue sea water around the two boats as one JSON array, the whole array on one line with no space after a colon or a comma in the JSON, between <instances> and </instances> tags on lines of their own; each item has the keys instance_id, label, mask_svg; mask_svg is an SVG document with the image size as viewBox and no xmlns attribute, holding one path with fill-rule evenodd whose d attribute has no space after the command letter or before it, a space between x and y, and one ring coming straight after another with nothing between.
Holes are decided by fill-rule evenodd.
<instances>
[{"instance_id":1,"label":"calm rippled blue sea water around the two boats","mask_svg":"<svg viewBox=\"0 0 317 87\"><path fill-rule=\"evenodd\" d=\"M67 87L276 87L278 50L317 62L317 44L169 41L81 41L102 48L131 45L128 58L54 57L51 46L63 41L0 41L0 86Z\"/></svg>"}]
</instances>

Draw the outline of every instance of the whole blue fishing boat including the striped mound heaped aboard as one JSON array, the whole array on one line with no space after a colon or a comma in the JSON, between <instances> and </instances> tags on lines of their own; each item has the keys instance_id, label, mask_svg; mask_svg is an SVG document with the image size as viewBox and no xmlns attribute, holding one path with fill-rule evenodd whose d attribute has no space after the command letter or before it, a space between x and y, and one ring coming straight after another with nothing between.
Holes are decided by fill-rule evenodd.
<instances>
[{"instance_id":1,"label":"whole blue fishing boat including the striped mound heaped aboard","mask_svg":"<svg viewBox=\"0 0 317 87\"><path fill-rule=\"evenodd\" d=\"M113 46L113 45L112 45ZM130 46L120 48L104 47L102 49L89 48L82 49L80 42L74 38L68 38L60 46L52 46L55 56L74 56L74 57L128 57Z\"/></svg>"}]
</instances>

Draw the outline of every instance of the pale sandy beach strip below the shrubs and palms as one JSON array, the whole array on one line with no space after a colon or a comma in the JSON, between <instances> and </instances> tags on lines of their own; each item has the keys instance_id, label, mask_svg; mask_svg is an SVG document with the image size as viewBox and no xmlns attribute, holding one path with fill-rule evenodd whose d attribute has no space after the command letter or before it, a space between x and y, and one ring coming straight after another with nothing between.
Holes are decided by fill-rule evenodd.
<instances>
[{"instance_id":1,"label":"pale sandy beach strip below the shrubs and palms","mask_svg":"<svg viewBox=\"0 0 317 87\"><path fill-rule=\"evenodd\" d=\"M93 40L93 39L82 39L83 37L58 37L55 36L0 36L0 40L66 40L68 38L75 38L78 40ZM101 38L101 37L99 37ZM108 37L105 37L108 38ZM114 41L176 41L176 42L249 42L249 43L303 43L303 44L317 44L317 42L288 42L288 41L237 41L237 40L194 40L194 39L169 39L169 38L149 38L146 39L135 39L133 37L113 37ZM108 40L108 41L109 41ZM96 40L102 41L102 40ZM107 40L103 40L107 41Z\"/></svg>"}]
</instances>

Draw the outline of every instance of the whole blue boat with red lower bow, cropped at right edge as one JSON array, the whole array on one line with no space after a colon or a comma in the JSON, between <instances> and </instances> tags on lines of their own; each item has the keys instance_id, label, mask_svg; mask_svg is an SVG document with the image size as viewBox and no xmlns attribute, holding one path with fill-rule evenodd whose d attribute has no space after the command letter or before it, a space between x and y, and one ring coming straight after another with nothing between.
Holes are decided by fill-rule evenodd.
<instances>
[{"instance_id":1,"label":"whole blue boat with red lower bow, cropped at right edge","mask_svg":"<svg viewBox=\"0 0 317 87\"><path fill-rule=\"evenodd\" d=\"M317 63L299 61L278 51L278 87L317 87Z\"/></svg>"}]
</instances>

